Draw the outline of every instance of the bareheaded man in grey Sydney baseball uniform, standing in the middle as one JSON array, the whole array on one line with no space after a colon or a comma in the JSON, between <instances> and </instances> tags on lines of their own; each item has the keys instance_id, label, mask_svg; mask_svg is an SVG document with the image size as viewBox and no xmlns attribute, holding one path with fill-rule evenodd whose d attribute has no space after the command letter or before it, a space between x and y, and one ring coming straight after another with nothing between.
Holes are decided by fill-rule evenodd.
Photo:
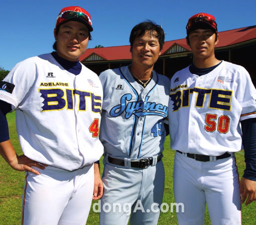
<instances>
[{"instance_id":1,"label":"bareheaded man in grey Sydney baseball uniform, standing in the middle","mask_svg":"<svg viewBox=\"0 0 256 225\"><path fill-rule=\"evenodd\" d=\"M164 190L162 151L170 80L153 70L164 44L152 21L130 35L132 64L108 69L103 86L100 140L104 194L100 224L157 224Z\"/></svg>"}]
</instances>

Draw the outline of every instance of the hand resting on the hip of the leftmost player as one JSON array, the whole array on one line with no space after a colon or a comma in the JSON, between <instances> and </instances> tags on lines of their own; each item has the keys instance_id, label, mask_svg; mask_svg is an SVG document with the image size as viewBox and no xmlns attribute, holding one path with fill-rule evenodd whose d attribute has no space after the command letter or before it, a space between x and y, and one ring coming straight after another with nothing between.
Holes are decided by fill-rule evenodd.
<instances>
[{"instance_id":1,"label":"hand resting on the hip of the leftmost player","mask_svg":"<svg viewBox=\"0 0 256 225\"><path fill-rule=\"evenodd\" d=\"M16 170L19 170L19 171L29 171L29 172L33 172L35 173L36 175L39 175L40 172L37 171L36 169L33 169L31 166L36 166L38 168L41 168L41 169L45 169L45 166L47 166L46 164L42 164L42 163L39 163L37 161L34 161L30 158L28 158L26 155L20 155L12 160L11 162L9 162L10 166Z\"/></svg>"}]
</instances>

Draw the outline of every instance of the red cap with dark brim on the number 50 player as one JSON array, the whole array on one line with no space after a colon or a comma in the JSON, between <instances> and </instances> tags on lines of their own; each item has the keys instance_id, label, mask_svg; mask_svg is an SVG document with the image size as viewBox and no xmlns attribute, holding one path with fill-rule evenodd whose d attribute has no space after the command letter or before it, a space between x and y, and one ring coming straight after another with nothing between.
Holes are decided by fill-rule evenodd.
<instances>
[{"instance_id":1,"label":"red cap with dark brim on the number 50 player","mask_svg":"<svg viewBox=\"0 0 256 225\"><path fill-rule=\"evenodd\" d=\"M210 28L214 32L217 32L217 23L215 21L215 17L204 12L200 12L191 16L186 26L187 35L191 30L196 28Z\"/></svg>"}]
</instances>

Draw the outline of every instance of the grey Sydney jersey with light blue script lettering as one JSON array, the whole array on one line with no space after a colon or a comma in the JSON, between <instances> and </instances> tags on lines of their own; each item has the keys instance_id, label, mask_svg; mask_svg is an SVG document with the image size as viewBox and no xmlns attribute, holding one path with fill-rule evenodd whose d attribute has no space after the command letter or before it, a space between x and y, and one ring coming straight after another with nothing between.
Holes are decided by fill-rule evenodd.
<instances>
[{"instance_id":1,"label":"grey Sydney jersey with light blue script lettering","mask_svg":"<svg viewBox=\"0 0 256 225\"><path fill-rule=\"evenodd\" d=\"M99 78L104 91L100 140L106 152L130 158L160 154L165 141L163 120L168 113L168 77L153 71L144 88L128 66L123 66L108 69Z\"/></svg>"}]
</instances>

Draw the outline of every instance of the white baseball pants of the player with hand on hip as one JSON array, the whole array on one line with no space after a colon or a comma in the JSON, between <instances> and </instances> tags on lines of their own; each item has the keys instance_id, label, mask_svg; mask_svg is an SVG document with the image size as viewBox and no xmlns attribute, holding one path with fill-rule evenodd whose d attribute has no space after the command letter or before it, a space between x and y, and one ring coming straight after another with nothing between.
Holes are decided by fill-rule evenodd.
<instances>
[{"instance_id":1,"label":"white baseball pants of the player with hand on hip","mask_svg":"<svg viewBox=\"0 0 256 225\"><path fill-rule=\"evenodd\" d=\"M74 171L35 169L41 174L26 172L22 224L84 225L93 195L93 165Z\"/></svg>"}]
</instances>

